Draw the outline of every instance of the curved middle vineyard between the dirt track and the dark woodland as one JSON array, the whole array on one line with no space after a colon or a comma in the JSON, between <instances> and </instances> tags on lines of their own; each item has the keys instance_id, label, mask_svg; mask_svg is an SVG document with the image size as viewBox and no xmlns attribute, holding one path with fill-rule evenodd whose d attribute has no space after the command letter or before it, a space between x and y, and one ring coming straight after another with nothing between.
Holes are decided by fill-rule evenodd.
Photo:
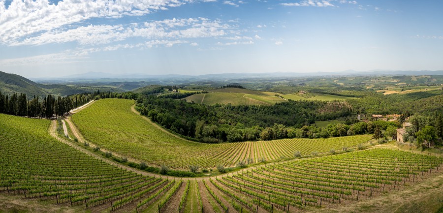
<instances>
[{"instance_id":1,"label":"curved middle vineyard between the dirt track and the dark woodland","mask_svg":"<svg viewBox=\"0 0 443 213\"><path fill-rule=\"evenodd\" d=\"M316 155L331 149L357 147L371 139L369 135L357 135L329 139L196 143L166 133L146 121L131 111L133 104L132 100L102 99L71 119L92 144L149 165L167 165L176 169L187 169L189 165L201 168L234 166L250 158L253 162L271 161L293 157L296 151L301 155Z\"/></svg>"}]
</instances>

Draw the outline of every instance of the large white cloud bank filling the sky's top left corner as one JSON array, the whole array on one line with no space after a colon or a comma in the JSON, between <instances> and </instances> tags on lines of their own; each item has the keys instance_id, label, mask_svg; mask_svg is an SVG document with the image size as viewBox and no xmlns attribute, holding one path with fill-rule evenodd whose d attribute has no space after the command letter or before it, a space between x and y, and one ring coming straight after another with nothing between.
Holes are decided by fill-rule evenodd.
<instances>
[{"instance_id":1,"label":"large white cloud bank filling the sky's top left corner","mask_svg":"<svg viewBox=\"0 0 443 213\"><path fill-rule=\"evenodd\" d=\"M9 44L34 33L61 30L62 27L91 18L140 16L188 0L12 0L6 8L0 1L0 43Z\"/></svg>"}]
</instances>

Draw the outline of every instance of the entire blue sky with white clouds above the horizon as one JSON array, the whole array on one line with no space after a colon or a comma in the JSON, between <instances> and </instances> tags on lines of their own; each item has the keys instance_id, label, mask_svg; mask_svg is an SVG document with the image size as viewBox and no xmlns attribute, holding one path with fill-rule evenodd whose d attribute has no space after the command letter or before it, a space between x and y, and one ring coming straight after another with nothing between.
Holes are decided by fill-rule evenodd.
<instances>
[{"instance_id":1,"label":"entire blue sky with white clouds above the horizon","mask_svg":"<svg viewBox=\"0 0 443 213\"><path fill-rule=\"evenodd\" d=\"M443 70L441 0L0 0L0 71Z\"/></svg>"}]
</instances>

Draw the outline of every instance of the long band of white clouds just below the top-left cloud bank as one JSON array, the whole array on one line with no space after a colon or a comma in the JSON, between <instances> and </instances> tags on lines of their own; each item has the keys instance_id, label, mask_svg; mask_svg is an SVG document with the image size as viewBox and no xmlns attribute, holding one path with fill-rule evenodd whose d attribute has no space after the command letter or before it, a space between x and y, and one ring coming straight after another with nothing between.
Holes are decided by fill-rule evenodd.
<instances>
[{"instance_id":1,"label":"long band of white clouds just below the top-left cloud bank","mask_svg":"<svg viewBox=\"0 0 443 213\"><path fill-rule=\"evenodd\" d=\"M81 45L95 46L124 41L131 37L145 39L220 37L227 35L226 30L233 28L219 20L211 21L205 18L165 19L145 22L142 25L89 25L66 31L52 30L22 41L14 41L9 45L78 42Z\"/></svg>"}]
</instances>

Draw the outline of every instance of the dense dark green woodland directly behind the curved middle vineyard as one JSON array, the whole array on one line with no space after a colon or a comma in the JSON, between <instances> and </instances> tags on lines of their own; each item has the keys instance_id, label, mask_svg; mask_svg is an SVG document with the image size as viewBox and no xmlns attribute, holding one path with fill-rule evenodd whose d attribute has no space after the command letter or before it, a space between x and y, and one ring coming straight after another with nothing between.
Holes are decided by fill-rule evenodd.
<instances>
[{"instance_id":1,"label":"dense dark green woodland directly behind the curved middle vineyard","mask_svg":"<svg viewBox=\"0 0 443 213\"><path fill-rule=\"evenodd\" d=\"M140 96L136 109L164 128L206 143L287 138L282 129L352 114L343 102L291 100L272 106L209 106L161 96Z\"/></svg>"}]
</instances>

